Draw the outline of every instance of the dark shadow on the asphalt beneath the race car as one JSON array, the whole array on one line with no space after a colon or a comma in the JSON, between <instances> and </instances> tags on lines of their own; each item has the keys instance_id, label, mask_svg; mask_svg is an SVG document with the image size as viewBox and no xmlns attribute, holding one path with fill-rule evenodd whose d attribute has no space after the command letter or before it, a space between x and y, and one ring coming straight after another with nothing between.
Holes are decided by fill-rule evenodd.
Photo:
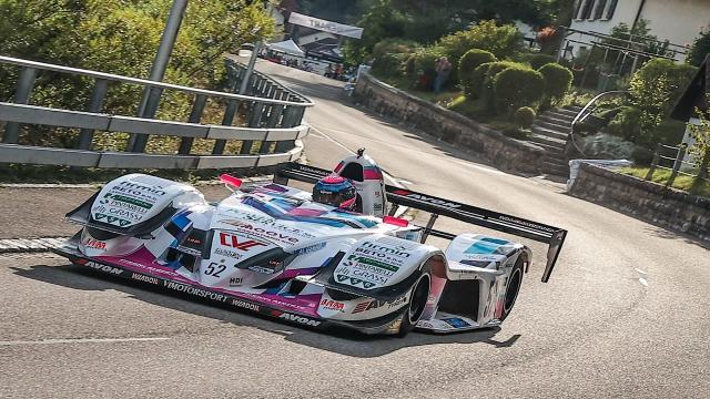
<instances>
[{"instance_id":1,"label":"dark shadow on the asphalt beneath the race car","mask_svg":"<svg viewBox=\"0 0 710 399\"><path fill-rule=\"evenodd\" d=\"M438 344L485 344L496 348L508 348L520 338L514 335L506 340L496 340L500 328L450 335L412 332L405 338L367 336L346 328L313 330L278 321L266 316L239 310L224 304L209 301L184 293L168 290L141 282L128 280L102 274L77 265L33 265L29 268L11 267L18 276L62 286L71 289L102 291L118 290L130 298L175 311L209 317L224 324L248 326L281 336L290 342L337 352L358 358L372 358L394 352L402 348Z\"/></svg>"}]
</instances>

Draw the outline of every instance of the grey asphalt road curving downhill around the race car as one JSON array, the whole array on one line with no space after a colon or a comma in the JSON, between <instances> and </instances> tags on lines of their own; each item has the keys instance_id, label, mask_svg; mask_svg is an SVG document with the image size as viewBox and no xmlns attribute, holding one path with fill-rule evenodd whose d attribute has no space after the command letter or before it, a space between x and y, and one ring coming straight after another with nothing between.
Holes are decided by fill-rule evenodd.
<instances>
[{"instance_id":1,"label":"grey asphalt road curving downhill around the race car","mask_svg":"<svg viewBox=\"0 0 710 399\"><path fill-rule=\"evenodd\" d=\"M706 247L361 111L337 82L258 68L316 101L312 164L364 146L413 190L567 228L550 283L540 283L545 247L526 242L538 262L500 329L366 338L134 287L49 255L0 257L1 398L710 397Z\"/></svg>"}]
</instances>

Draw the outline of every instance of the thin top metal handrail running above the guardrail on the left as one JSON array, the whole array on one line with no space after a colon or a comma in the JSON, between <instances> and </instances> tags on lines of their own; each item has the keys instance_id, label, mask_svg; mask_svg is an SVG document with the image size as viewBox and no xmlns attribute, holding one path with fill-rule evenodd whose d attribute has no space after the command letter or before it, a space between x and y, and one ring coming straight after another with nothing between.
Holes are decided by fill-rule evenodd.
<instances>
[{"instance_id":1,"label":"thin top metal handrail running above the guardrail on the left","mask_svg":"<svg viewBox=\"0 0 710 399\"><path fill-rule=\"evenodd\" d=\"M273 99L265 99L265 98L243 95L243 94L217 92L217 91L205 90L205 89L195 89L195 88L189 88L189 86L183 86L179 84L163 83L163 82L156 82L156 81L139 79L139 78L121 76L121 75L105 73L105 72L89 71L84 69L70 68L70 66L50 64L50 63L38 62L38 61L21 60L12 57L4 57L4 55L0 55L0 63L13 64L13 65L23 66L23 68L33 68L33 69L45 70L45 71L79 74L79 75L90 76L94 79L103 79L106 81L114 81L114 82L122 82L122 83L133 83L133 84L140 84L140 85L145 85L151 88L158 88L158 89L179 90L179 91L189 92L193 94L219 96L219 98L230 99L230 100L247 100L247 101L254 101L254 102L261 102L261 103L267 103L267 104L295 105L295 106L315 105L313 102L311 102L308 99L306 99L302 94L298 94L297 92L291 91L291 90L290 91L294 95L297 95L301 100L303 100L303 102L273 100Z\"/></svg>"}]
</instances>

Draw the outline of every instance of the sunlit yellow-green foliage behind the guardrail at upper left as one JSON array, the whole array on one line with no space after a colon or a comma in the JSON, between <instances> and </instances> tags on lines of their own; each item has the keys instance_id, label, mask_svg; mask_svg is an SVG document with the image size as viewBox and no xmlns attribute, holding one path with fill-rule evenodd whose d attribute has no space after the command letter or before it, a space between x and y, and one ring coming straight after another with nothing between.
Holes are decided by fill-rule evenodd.
<instances>
[{"instance_id":1,"label":"sunlit yellow-green foliage behind the guardrail at upper left","mask_svg":"<svg viewBox=\"0 0 710 399\"><path fill-rule=\"evenodd\" d=\"M0 0L0 53L148 78L171 6L171 0ZM274 22L260 2L191 0L165 81L214 88L224 78L224 53L273 31ZM0 95L8 98L17 73L2 73ZM92 89L87 83L40 75L34 96L45 105L82 109ZM132 112L140 94L139 88L112 86L105 108ZM161 112L182 115L185 102L168 99Z\"/></svg>"}]
</instances>

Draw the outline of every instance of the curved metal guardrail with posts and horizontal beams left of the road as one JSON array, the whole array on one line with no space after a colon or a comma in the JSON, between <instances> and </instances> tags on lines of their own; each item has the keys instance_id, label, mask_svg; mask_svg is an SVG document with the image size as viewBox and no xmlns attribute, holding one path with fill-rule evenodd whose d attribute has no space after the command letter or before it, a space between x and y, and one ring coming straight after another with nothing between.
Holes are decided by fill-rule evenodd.
<instances>
[{"instance_id":1,"label":"curved metal guardrail with posts and horizontal beams left of the road","mask_svg":"<svg viewBox=\"0 0 710 399\"><path fill-rule=\"evenodd\" d=\"M12 102L0 102L0 122L6 122L0 144L0 163L121 168L267 166L296 158L302 151L298 139L308 132L307 125L303 123L303 115L313 102L258 72L250 76L246 91L250 95L242 95L9 57L0 57L0 65L20 69ZM38 73L43 71L92 79L93 93L87 110L70 111L31 105ZM231 90L239 88L246 75L245 66L233 60L227 60L227 85ZM143 117L102 113L109 82L148 88L149 95L156 96L159 101L151 102L154 106L144 110ZM165 90L194 96L187 121L152 119ZM224 104L221 125L200 123L209 99L216 99ZM234 125L235 122L239 123L235 121L237 112L243 116L241 125ZM80 129L78 144L74 149L21 145L19 142L23 124ZM125 152L98 152L92 149L95 131L131 133L132 140ZM181 137L178 153L145 154L145 143L150 135ZM212 155L191 154L195 139L215 140ZM241 142L240 154L224 154L227 141ZM252 151L255 142L261 142L261 145L257 151Z\"/></svg>"}]
</instances>

